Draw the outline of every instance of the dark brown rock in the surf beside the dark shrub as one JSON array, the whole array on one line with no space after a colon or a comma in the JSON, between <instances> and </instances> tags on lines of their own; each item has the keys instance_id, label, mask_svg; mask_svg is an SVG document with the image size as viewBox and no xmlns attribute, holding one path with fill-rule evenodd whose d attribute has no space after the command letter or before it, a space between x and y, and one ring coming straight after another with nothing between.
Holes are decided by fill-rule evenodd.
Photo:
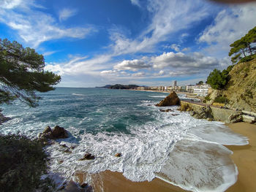
<instances>
[{"instance_id":1,"label":"dark brown rock in the surf beside the dark shrub","mask_svg":"<svg viewBox=\"0 0 256 192\"><path fill-rule=\"evenodd\" d=\"M45 130L39 134L39 140L46 141L47 139L64 139L68 137L67 131L60 126L55 126L53 129L47 126Z\"/></svg>"}]
</instances>

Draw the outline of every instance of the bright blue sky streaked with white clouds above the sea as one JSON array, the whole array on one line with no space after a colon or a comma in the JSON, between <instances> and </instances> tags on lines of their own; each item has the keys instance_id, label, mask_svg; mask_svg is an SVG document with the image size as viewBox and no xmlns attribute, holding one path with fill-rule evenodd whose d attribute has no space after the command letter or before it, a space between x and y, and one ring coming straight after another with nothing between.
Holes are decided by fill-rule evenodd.
<instances>
[{"instance_id":1,"label":"bright blue sky streaked with white clouds above the sea","mask_svg":"<svg viewBox=\"0 0 256 192\"><path fill-rule=\"evenodd\" d=\"M62 87L206 81L255 26L256 3L0 0L0 38L44 55Z\"/></svg>"}]
</instances>

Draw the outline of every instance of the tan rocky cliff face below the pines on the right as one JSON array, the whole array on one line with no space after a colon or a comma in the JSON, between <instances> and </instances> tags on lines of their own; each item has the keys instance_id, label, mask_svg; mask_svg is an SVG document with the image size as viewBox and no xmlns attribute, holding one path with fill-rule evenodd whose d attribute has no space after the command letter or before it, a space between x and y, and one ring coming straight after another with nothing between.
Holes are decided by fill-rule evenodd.
<instances>
[{"instance_id":1,"label":"tan rocky cliff face below the pines on the right","mask_svg":"<svg viewBox=\"0 0 256 192\"><path fill-rule=\"evenodd\" d=\"M227 107L256 112L256 58L236 64L229 74L230 81L225 91L211 91L211 101L217 96L225 96L228 99Z\"/></svg>"}]
</instances>

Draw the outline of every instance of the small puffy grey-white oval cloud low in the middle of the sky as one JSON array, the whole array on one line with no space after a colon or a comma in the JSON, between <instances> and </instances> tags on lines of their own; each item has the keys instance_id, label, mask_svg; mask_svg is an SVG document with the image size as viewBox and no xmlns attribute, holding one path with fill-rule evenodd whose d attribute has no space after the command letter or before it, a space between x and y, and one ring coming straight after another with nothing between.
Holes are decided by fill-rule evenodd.
<instances>
[{"instance_id":1,"label":"small puffy grey-white oval cloud low in the middle of the sky","mask_svg":"<svg viewBox=\"0 0 256 192\"><path fill-rule=\"evenodd\" d=\"M138 69L148 69L151 68L150 64L146 64L143 60L124 60L120 64L114 66L114 69L118 70L131 70L137 71Z\"/></svg>"}]
</instances>

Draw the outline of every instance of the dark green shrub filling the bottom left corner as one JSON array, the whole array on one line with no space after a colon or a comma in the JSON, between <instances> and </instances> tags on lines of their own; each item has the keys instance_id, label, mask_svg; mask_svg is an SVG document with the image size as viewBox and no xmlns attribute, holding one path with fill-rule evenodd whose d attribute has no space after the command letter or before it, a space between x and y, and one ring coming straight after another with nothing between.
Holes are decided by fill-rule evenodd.
<instances>
[{"instance_id":1,"label":"dark green shrub filling the bottom left corner","mask_svg":"<svg viewBox=\"0 0 256 192\"><path fill-rule=\"evenodd\" d=\"M42 185L47 155L42 144L20 135L0 135L0 189L35 191Z\"/></svg>"}]
</instances>

